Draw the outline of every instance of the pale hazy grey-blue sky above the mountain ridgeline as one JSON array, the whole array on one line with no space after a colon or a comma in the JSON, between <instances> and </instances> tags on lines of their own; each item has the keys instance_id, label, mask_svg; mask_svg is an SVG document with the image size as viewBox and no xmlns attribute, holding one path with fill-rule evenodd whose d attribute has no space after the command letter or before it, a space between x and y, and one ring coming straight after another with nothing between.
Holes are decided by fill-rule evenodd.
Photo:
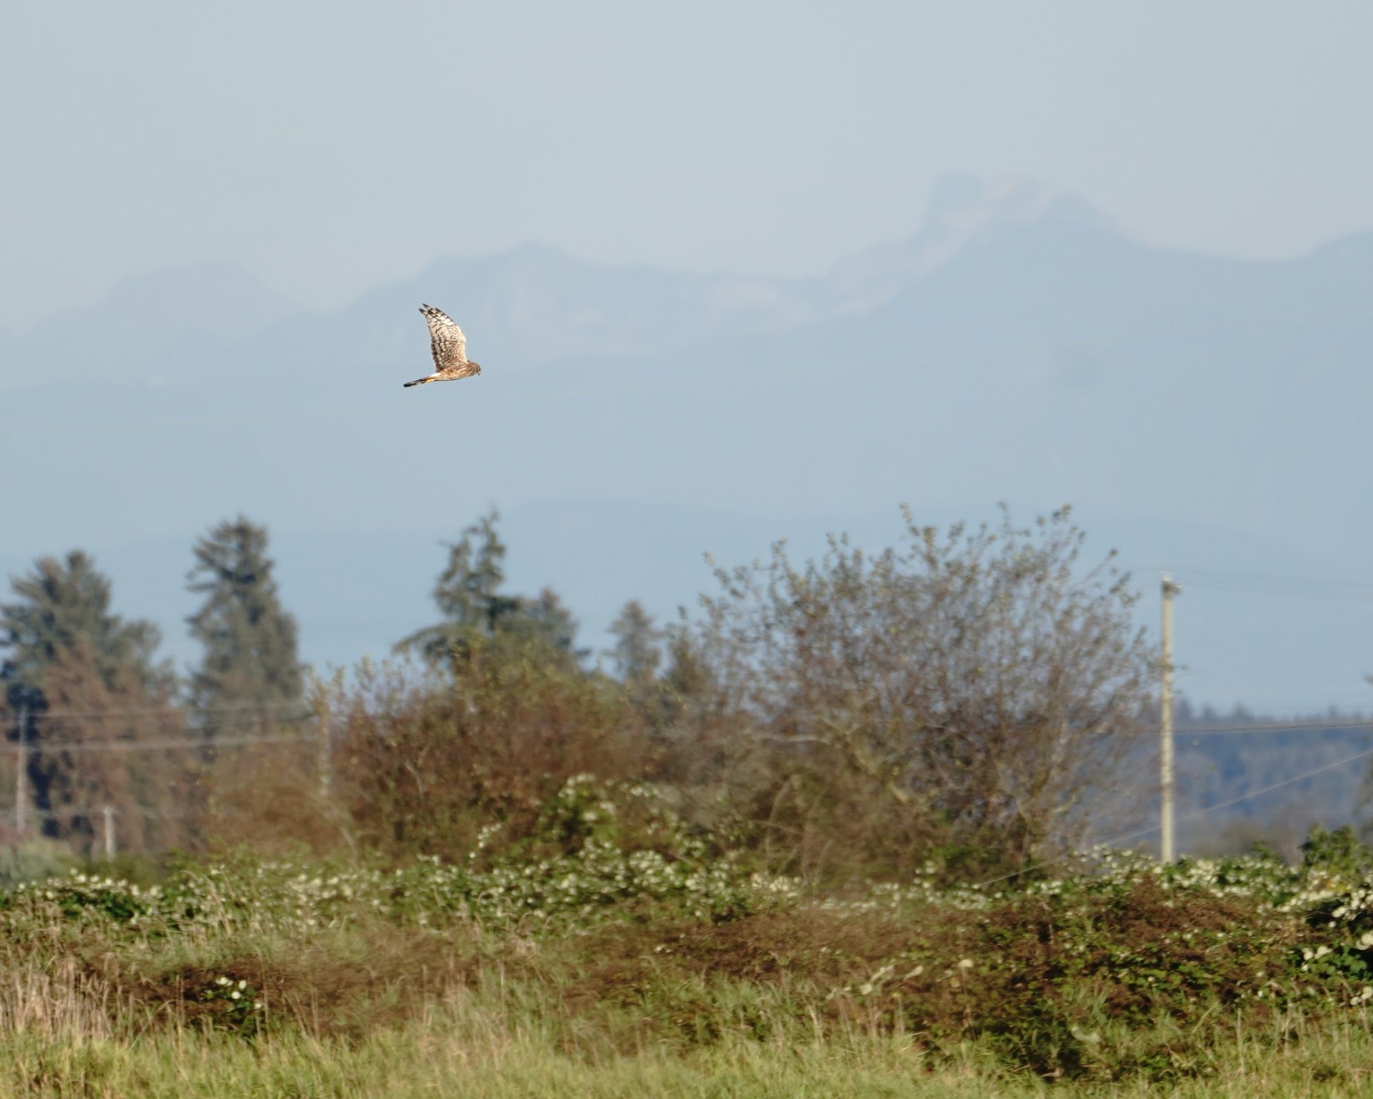
<instances>
[{"instance_id":1,"label":"pale hazy grey-blue sky above the mountain ridgeline","mask_svg":"<svg viewBox=\"0 0 1373 1099\"><path fill-rule=\"evenodd\" d=\"M15 4L0 330L240 262L312 305L526 240L795 275L947 170L1151 242L1373 228L1363 3Z\"/></svg>"}]
</instances>

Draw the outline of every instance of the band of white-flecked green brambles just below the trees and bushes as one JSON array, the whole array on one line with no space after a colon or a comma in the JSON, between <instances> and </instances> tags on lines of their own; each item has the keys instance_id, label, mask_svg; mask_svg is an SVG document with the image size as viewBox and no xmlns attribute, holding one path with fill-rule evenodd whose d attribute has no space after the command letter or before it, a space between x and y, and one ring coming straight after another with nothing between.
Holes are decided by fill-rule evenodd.
<instances>
[{"instance_id":1,"label":"band of white-flecked green brambles just below the trees and bushes","mask_svg":"<svg viewBox=\"0 0 1373 1099\"><path fill-rule=\"evenodd\" d=\"M872 883L846 896L817 897L798 879L754 872L741 857L710 856L711 839L688 830L652 787L616 787L577 775L545 806L545 819L551 827L564 830L551 834L575 835L577 849L542 859L518 849L503 852L501 828L492 824L479 831L476 850L456 863L423 857L383 870L365 864L228 861L181 868L151 889L73 872L0 890L0 929L10 925L16 933L32 934L33 926L18 925L27 920L85 929L103 922L151 938L183 933L312 936L361 920L435 930L453 923L566 927L623 919L626 912L641 912L644 904L696 919L733 919L762 908L814 904L919 920L921 909L942 907L968 912L969 923L976 923L984 919L978 914L1026 897L1037 904L1042 900L1071 922L1075 915L1089 919L1103 898L1148 883L1179 900L1181 894L1241 898L1270 914L1291 916L1293 926L1304 925L1295 940L1304 945L1289 949L1284 963L1288 977L1302 973L1296 979L1308 989L1315 988L1311 982L1325 982L1321 986L1326 989L1337 986L1339 997L1354 1006L1373 1001L1373 881L1348 868L1291 868L1263 857L1160 865L1138 853L1097 848L1082 853L1072 872L1030 883L949 886L939 867L930 863L909 882ZM626 837L643 837L645 832L630 830L645 819L649 841L633 849ZM1189 952L1203 956L1243 949L1243 929L1167 930L1151 951L1160 944L1185 944ZM1068 956L1096 952L1114 979L1142 985L1156 979L1156 956L1133 944L1104 947L1090 937L1068 937L1057 949ZM971 958L958 953L887 958L873 963L868 975L855 974L835 995L890 996L895 985L916 978L965 989L995 964L995 959L979 956L975 967ZM1245 977L1241 984L1240 995L1287 995L1287 986L1265 973ZM236 1011L246 1011L250 1003L258 1007L242 981L220 978L213 992L235 1003Z\"/></svg>"}]
</instances>

